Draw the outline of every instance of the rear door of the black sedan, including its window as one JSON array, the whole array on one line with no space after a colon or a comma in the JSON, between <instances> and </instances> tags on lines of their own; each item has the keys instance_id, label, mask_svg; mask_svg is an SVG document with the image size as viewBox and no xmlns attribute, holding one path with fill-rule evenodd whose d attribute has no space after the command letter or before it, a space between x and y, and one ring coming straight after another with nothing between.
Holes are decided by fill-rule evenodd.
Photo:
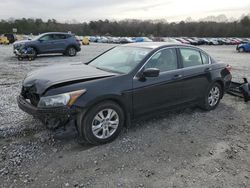
<instances>
[{"instance_id":1,"label":"rear door of the black sedan, including its window","mask_svg":"<svg viewBox=\"0 0 250 188\"><path fill-rule=\"evenodd\" d=\"M186 102L201 99L211 82L209 56L189 47L179 48L179 55L183 67L183 97Z\"/></svg>"}]
</instances>

